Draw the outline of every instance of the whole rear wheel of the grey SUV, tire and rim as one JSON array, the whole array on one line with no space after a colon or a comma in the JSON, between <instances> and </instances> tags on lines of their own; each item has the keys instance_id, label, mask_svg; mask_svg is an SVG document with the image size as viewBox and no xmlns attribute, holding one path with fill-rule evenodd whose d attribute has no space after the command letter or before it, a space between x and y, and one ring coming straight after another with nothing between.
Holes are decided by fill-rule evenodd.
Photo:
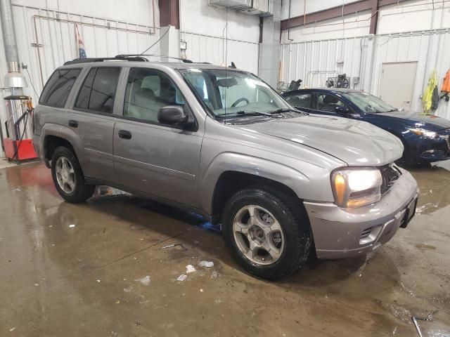
<instances>
[{"instance_id":1,"label":"whole rear wheel of the grey SUV, tire and rim","mask_svg":"<svg viewBox=\"0 0 450 337\"><path fill-rule=\"evenodd\" d=\"M51 176L56 190L65 201L77 204L94 194L95 185L86 185L78 159L67 147L57 147L53 152Z\"/></svg>"}]
</instances>

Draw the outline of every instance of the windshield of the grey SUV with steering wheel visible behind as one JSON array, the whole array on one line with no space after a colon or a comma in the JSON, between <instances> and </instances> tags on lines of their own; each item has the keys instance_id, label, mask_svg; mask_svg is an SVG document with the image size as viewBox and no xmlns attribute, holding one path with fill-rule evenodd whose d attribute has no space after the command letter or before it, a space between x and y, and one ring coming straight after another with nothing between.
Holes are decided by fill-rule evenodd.
<instances>
[{"instance_id":1,"label":"windshield of the grey SUV with steering wheel visible behind","mask_svg":"<svg viewBox=\"0 0 450 337\"><path fill-rule=\"evenodd\" d=\"M247 72L190 69L181 74L216 117L293 109L270 86Z\"/></svg>"}]
</instances>

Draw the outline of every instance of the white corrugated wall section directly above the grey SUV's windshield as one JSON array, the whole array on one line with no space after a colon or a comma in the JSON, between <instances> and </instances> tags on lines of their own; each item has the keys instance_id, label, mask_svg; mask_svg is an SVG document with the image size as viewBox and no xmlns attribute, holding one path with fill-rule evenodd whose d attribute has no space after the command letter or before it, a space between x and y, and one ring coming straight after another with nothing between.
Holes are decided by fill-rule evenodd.
<instances>
[{"instance_id":1,"label":"white corrugated wall section directly above the grey SUV's windshield","mask_svg":"<svg viewBox=\"0 0 450 337\"><path fill-rule=\"evenodd\" d=\"M233 61L236 67L258 74L259 44L205 34L180 32L181 41L186 41L186 58L194 62L210 62L214 65L228 65ZM228 43L228 46L226 44Z\"/></svg>"}]
</instances>

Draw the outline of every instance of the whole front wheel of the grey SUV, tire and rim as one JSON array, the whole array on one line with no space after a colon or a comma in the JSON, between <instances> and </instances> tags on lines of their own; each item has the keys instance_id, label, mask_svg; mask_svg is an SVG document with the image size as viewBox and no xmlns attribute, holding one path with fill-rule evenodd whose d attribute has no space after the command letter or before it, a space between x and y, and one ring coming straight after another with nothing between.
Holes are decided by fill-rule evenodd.
<instances>
[{"instance_id":1,"label":"whole front wheel of the grey SUV, tire and rim","mask_svg":"<svg viewBox=\"0 0 450 337\"><path fill-rule=\"evenodd\" d=\"M227 202L223 234L233 258L250 274L281 279L296 272L311 247L309 220L297 199L250 187Z\"/></svg>"}]
</instances>

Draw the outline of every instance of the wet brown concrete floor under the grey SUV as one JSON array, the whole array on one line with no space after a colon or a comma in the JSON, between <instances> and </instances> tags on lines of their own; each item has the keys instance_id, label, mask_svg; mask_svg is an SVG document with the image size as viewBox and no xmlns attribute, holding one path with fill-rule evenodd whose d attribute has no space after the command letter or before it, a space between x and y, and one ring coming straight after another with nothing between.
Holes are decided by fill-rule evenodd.
<instances>
[{"instance_id":1,"label":"wet brown concrete floor under the grey SUV","mask_svg":"<svg viewBox=\"0 0 450 337\"><path fill-rule=\"evenodd\" d=\"M0 336L411 337L434 310L424 336L448 333L450 163L413 175L418 216L389 244L271 283L198 217L105 188L66 204L41 164L0 169Z\"/></svg>"}]
</instances>

